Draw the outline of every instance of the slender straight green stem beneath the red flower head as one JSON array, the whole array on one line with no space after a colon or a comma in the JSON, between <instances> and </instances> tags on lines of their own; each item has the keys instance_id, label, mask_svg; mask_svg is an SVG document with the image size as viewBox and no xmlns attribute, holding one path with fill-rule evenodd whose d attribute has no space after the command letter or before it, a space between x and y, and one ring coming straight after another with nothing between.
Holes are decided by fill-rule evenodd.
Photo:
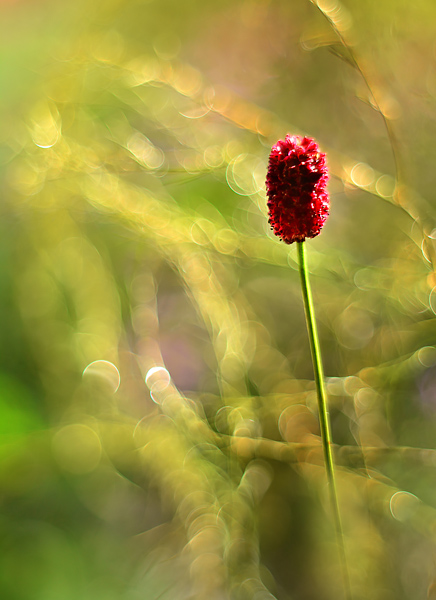
<instances>
[{"instance_id":1,"label":"slender straight green stem beneath the red flower head","mask_svg":"<svg viewBox=\"0 0 436 600\"><path fill-rule=\"evenodd\" d=\"M321 441L324 451L325 468L327 471L327 481L330 492L330 502L333 511L339 556L344 576L345 597L347 600L351 600L350 580L348 576L347 560L345 555L341 513L339 511L338 495L336 491L335 469L331 448L332 436L330 432L330 419L327 409L327 395L324 385L324 370L322 366L321 350L319 347L318 330L316 328L315 310L313 307L309 273L307 270L306 244L305 242L297 242L297 247L300 266L301 289L303 292L304 310L306 313L307 332L309 334L310 351L312 354L313 371L315 375L315 384L318 397L319 424L321 429Z\"/></svg>"}]
</instances>

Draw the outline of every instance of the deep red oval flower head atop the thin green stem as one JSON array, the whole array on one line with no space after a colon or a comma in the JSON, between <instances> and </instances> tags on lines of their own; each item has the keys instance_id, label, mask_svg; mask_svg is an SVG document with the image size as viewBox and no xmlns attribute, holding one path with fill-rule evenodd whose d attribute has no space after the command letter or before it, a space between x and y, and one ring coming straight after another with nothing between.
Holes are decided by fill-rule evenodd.
<instances>
[{"instance_id":1,"label":"deep red oval flower head atop the thin green stem","mask_svg":"<svg viewBox=\"0 0 436 600\"><path fill-rule=\"evenodd\" d=\"M329 214L325 154L312 138L287 135L272 147L266 177L269 223L287 244L318 235Z\"/></svg>"}]
</instances>

